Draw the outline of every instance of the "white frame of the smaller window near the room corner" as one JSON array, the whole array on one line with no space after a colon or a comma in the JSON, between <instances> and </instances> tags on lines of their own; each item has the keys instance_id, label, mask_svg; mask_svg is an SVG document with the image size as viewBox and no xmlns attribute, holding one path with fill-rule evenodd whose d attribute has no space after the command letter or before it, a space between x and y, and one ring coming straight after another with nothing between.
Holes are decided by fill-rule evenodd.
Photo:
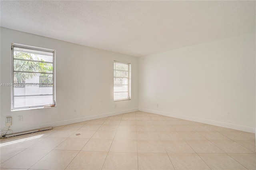
<instances>
[{"instance_id":1,"label":"white frame of the smaller window near the room corner","mask_svg":"<svg viewBox=\"0 0 256 170\"><path fill-rule=\"evenodd\" d=\"M116 92L115 89L114 89L114 101L126 101L126 100L131 100L131 91L132 91L132 88L131 88L131 63L126 63L126 62L122 62L122 61L115 61L114 60L114 66L115 66L115 63L122 63L122 64L126 64L128 65L128 96L127 98L123 98L123 99L115 99L115 93L122 93L122 92ZM117 70L115 67L114 67L114 72L115 71L123 71L123 70ZM114 74L114 79L116 78L115 76L116 74ZM127 78L127 77L118 77L118 78ZM114 83L113 83L114 84ZM114 84L115 85L115 84ZM113 86L114 87L114 86Z\"/></svg>"}]
</instances>

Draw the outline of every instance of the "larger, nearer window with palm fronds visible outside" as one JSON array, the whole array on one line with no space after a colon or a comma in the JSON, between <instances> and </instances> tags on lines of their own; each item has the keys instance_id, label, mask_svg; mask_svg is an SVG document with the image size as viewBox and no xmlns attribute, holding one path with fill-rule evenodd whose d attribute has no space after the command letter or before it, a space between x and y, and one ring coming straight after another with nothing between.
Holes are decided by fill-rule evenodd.
<instances>
[{"instance_id":1,"label":"larger, nearer window with palm fronds visible outside","mask_svg":"<svg viewBox=\"0 0 256 170\"><path fill-rule=\"evenodd\" d=\"M55 50L16 43L11 49L12 111L54 107Z\"/></svg>"}]
</instances>

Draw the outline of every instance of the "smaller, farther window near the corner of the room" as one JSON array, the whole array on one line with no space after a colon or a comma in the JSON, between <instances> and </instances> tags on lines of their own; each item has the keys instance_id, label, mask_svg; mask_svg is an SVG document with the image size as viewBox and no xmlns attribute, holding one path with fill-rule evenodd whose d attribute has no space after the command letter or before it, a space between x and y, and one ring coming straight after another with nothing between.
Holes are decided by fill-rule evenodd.
<instances>
[{"instance_id":1,"label":"smaller, farther window near the corner of the room","mask_svg":"<svg viewBox=\"0 0 256 170\"><path fill-rule=\"evenodd\" d=\"M114 61L114 101L131 99L131 64Z\"/></svg>"}]
</instances>

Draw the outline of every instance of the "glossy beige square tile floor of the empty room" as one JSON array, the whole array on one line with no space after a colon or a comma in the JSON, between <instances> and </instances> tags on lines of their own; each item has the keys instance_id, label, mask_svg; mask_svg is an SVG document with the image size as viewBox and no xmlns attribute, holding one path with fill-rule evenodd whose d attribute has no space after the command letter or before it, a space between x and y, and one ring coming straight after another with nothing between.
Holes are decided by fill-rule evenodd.
<instances>
[{"instance_id":1,"label":"glossy beige square tile floor of the empty room","mask_svg":"<svg viewBox=\"0 0 256 170\"><path fill-rule=\"evenodd\" d=\"M254 133L140 111L0 141L1 170L256 169Z\"/></svg>"}]
</instances>

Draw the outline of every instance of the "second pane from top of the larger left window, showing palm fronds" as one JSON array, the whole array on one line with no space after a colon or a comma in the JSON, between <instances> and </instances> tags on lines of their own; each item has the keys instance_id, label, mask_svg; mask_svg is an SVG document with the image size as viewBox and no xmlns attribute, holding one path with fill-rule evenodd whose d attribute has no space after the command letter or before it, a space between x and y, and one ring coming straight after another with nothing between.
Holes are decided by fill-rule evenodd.
<instances>
[{"instance_id":1,"label":"second pane from top of the larger left window, showing palm fronds","mask_svg":"<svg viewBox=\"0 0 256 170\"><path fill-rule=\"evenodd\" d=\"M23 61L14 59L14 71L45 72L52 73L52 63L36 61Z\"/></svg>"}]
</instances>

